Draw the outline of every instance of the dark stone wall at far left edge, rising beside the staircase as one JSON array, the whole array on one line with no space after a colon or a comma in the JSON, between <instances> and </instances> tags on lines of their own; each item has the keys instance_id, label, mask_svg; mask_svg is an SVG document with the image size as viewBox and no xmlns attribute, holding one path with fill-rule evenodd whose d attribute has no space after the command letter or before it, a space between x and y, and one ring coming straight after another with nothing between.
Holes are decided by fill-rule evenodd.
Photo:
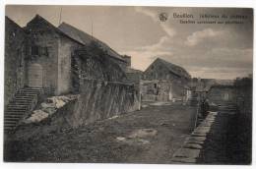
<instances>
[{"instance_id":1,"label":"dark stone wall at far left edge, rising beside the staircase","mask_svg":"<svg viewBox=\"0 0 256 169\"><path fill-rule=\"evenodd\" d=\"M5 20L5 92L7 105L26 81L26 34L22 28L6 17Z\"/></svg>"}]
</instances>

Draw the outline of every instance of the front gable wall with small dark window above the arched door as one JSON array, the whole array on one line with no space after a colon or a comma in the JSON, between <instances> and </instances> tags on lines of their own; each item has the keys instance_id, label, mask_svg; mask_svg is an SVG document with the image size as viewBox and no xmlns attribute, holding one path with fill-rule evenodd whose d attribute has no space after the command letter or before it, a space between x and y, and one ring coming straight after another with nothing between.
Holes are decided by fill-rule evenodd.
<instances>
[{"instance_id":1,"label":"front gable wall with small dark window above the arched door","mask_svg":"<svg viewBox=\"0 0 256 169\"><path fill-rule=\"evenodd\" d=\"M27 25L28 39L28 64L39 64L42 67L42 87L55 92L58 79L58 39L59 35L53 28L41 20L33 20ZM32 47L38 52L32 52ZM30 71L30 70L29 70ZM27 82L29 84L29 82Z\"/></svg>"}]
</instances>

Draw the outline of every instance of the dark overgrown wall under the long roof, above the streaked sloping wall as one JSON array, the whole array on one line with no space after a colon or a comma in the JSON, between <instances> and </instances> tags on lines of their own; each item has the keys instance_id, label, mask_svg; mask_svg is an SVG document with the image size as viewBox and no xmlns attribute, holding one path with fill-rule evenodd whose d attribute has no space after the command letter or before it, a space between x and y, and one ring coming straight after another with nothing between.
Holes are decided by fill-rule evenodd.
<instances>
[{"instance_id":1,"label":"dark overgrown wall under the long roof, above the streaked sloping wall","mask_svg":"<svg viewBox=\"0 0 256 169\"><path fill-rule=\"evenodd\" d=\"M80 91L80 80L99 80L106 82L127 82L125 72L118 64L95 44L76 50L71 58L72 86L74 92Z\"/></svg>"}]
</instances>

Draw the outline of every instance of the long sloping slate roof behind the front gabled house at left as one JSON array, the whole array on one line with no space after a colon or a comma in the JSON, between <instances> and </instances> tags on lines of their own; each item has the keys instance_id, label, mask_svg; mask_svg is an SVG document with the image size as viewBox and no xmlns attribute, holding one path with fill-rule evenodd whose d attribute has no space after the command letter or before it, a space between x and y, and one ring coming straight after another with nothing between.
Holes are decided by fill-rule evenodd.
<instances>
[{"instance_id":1,"label":"long sloping slate roof behind the front gabled house at left","mask_svg":"<svg viewBox=\"0 0 256 169\"><path fill-rule=\"evenodd\" d=\"M59 27L58 27L62 32L66 33L67 35L69 35L70 37L76 39L77 41L83 43L84 45L89 44L92 40L96 41L96 43L99 45L99 47L103 50L105 50L107 52L108 55L120 59L122 61L124 61L122 55L118 54L117 52L115 52L113 49L111 49L107 44L105 44L104 42L96 39L96 37L92 37L92 35L88 34L85 31L82 31L78 28L75 28L69 24L66 23L62 23Z\"/></svg>"}]
</instances>

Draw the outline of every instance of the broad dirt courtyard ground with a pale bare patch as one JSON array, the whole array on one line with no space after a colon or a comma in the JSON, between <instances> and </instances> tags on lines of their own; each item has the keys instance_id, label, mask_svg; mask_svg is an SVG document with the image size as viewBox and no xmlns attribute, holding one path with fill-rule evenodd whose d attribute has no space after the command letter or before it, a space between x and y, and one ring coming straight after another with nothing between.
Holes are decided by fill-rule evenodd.
<instances>
[{"instance_id":1,"label":"broad dirt courtyard ground with a pale bare patch","mask_svg":"<svg viewBox=\"0 0 256 169\"><path fill-rule=\"evenodd\" d=\"M173 152L193 130L195 113L196 108L189 106L149 106L76 130L48 133L41 130L45 133L31 138L17 133L19 139L6 145L5 159L169 163Z\"/></svg>"}]
</instances>

